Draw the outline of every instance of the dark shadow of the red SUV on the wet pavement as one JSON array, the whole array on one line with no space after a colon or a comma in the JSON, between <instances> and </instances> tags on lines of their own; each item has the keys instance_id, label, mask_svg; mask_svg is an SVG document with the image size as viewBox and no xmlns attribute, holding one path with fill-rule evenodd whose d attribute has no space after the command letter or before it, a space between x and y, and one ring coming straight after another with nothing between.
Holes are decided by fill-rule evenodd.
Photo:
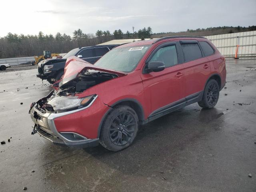
<instances>
[{"instance_id":1,"label":"dark shadow of the red SUV on the wet pavement","mask_svg":"<svg viewBox=\"0 0 256 192\"><path fill-rule=\"evenodd\" d=\"M122 151L111 152L102 146L83 150L124 174L142 174L150 172L148 167L156 166L159 171L163 166L172 169L180 162L180 152L214 130L208 124L221 113L216 108L203 110L188 106L140 126L134 143Z\"/></svg>"}]
</instances>

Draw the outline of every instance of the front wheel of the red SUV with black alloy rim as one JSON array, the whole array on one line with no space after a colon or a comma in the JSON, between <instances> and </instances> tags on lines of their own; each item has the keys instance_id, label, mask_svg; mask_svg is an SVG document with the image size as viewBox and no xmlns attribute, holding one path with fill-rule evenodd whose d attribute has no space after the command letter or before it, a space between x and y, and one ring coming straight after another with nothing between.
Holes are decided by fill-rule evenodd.
<instances>
[{"instance_id":1,"label":"front wheel of the red SUV with black alloy rim","mask_svg":"<svg viewBox=\"0 0 256 192\"><path fill-rule=\"evenodd\" d=\"M106 116L100 132L100 144L111 151L130 146L138 132L138 115L129 106L120 105Z\"/></svg>"}]
</instances>

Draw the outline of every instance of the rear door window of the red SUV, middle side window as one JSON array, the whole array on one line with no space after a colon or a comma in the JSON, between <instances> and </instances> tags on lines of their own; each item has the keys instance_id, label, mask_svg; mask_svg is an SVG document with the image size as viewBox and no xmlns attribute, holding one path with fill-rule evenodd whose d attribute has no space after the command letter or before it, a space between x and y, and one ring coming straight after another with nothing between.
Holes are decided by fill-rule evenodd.
<instances>
[{"instance_id":1,"label":"rear door window of the red SUV, middle side window","mask_svg":"<svg viewBox=\"0 0 256 192\"><path fill-rule=\"evenodd\" d=\"M197 43L184 43L181 44L185 57L185 62L189 62L202 57L202 52Z\"/></svg>"}]
</instances>

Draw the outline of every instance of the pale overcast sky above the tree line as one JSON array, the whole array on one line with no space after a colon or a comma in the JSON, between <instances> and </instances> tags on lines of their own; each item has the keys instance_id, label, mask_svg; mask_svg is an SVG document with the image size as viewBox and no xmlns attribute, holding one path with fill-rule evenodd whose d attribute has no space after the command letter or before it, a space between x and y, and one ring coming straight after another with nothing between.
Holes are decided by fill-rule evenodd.
<instances>
[{"instance_id":1,"label":"pale overcast sky above the tree line","mask_svg":"<svg viewBox=\"0 0 256 192\"><path fill-rule=\"evenodd\" d=\"M1 0L0 36L256 25L256 0Z\"/></svg>"}]
</instances>

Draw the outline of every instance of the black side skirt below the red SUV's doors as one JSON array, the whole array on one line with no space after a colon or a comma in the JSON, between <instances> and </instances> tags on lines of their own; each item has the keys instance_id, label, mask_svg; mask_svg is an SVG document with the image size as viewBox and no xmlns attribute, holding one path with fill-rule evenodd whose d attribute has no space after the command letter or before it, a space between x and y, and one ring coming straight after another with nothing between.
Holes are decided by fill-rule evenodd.
<instances>
[{"instance_id":1,"label":"black side skirt below the red SUV's doors","mask_svg":"<svg viewBox=\"0 0 256 192\"><path fill-rule=\"evenodd\" d=\"M185 98L183 98L181 100L178 100L178 101L176 101L174 103L171 103L171 104L169 104L167 106L164 106L164 107L162 107L162 108L160 108L158 110L155 110L154 112L152 112L148 116L148 118L146 120L144 120L142 122L142 124L146 124L146 123L148 123L150 121L153 121L153 120L155 120L155 119L157 119L159 117L162 117L162 116L164 116L166 114L174 112L174 111L176 111L176 110L178 110L180 108L183 108L183 107L188 106L190 104L196 103L196 102L202 100L203 94L204 94L204 91L200 91L200 92L197 92L197 93L192 94L190 96L187 96L187 97L185 97Z\"/></svg>"}]
</instances>

